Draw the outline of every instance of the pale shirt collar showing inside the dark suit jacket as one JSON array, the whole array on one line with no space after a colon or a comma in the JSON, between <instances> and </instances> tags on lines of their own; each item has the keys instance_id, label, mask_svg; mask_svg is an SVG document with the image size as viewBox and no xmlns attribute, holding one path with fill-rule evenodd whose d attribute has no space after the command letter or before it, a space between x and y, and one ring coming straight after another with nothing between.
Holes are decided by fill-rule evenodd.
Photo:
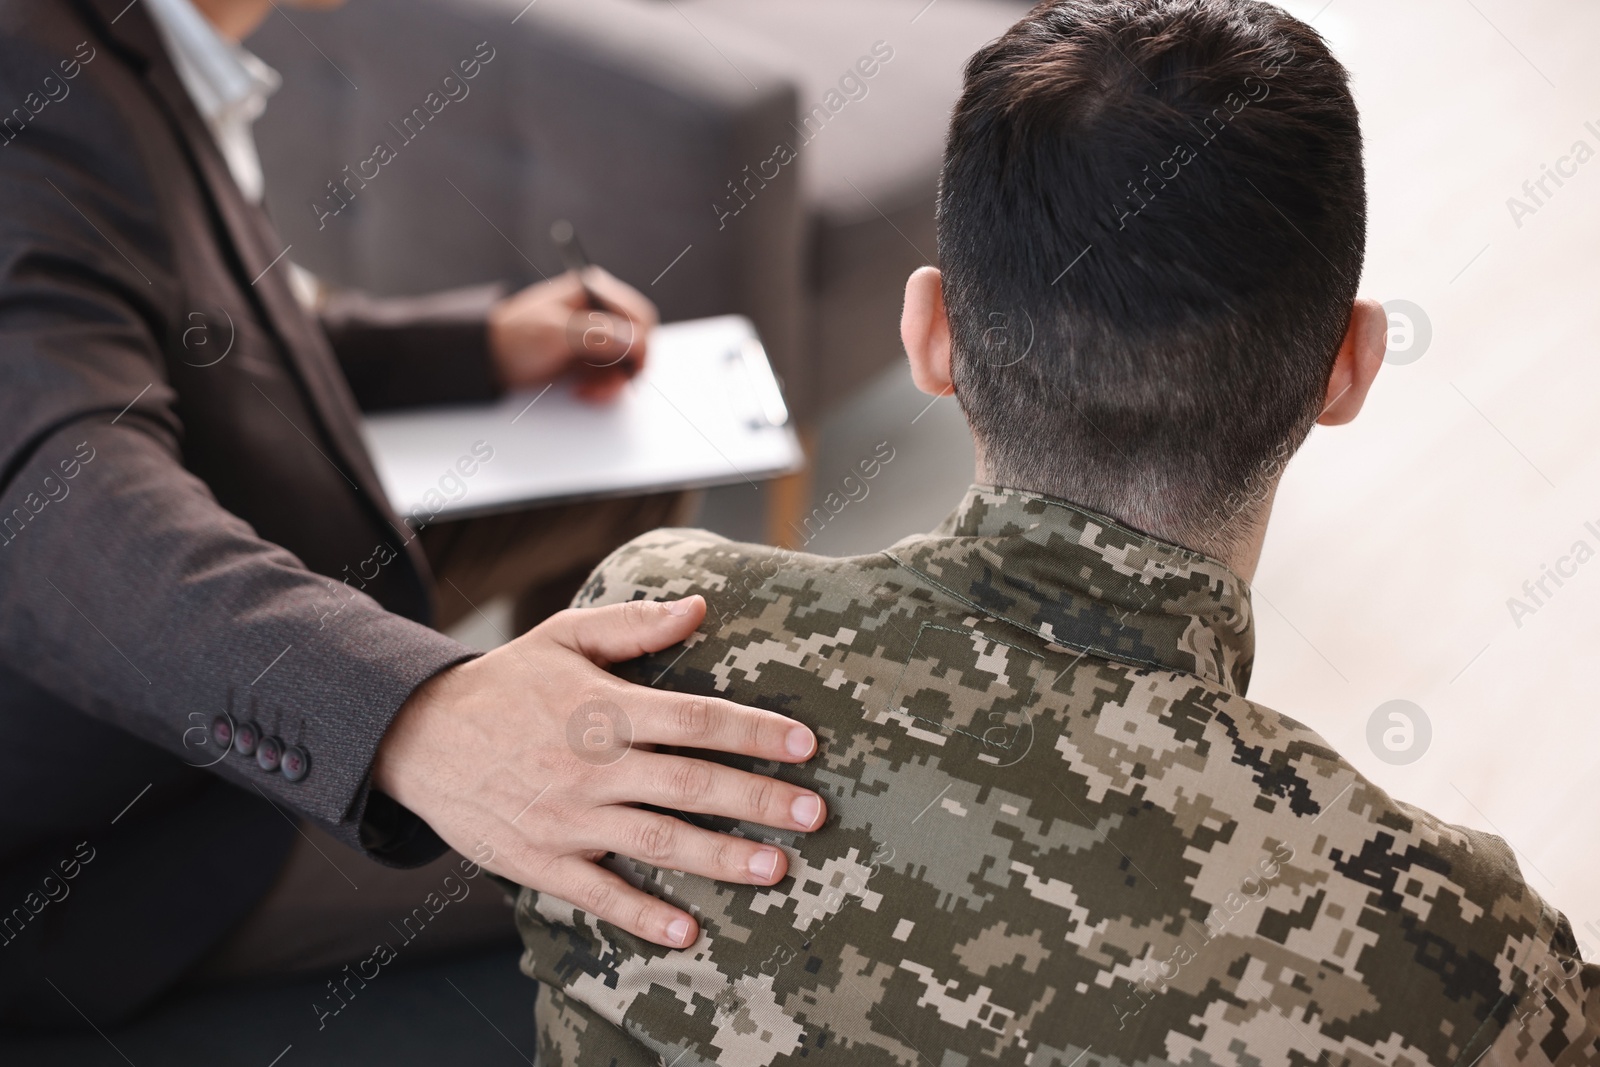
<instances>
[{"instance_id":1,"label":"pale shirt collar showing inside the dark suit jacket","mask_svg":"<svg viewBox=\"0 0 1600 1067\"><path fill-rule=\"evenodd\" d=\"M264 179L251 125L282 85L278 72L222 37L190 0L144 0L144 6L240 192L259 202Z\"/></svg>"}]
</instances>

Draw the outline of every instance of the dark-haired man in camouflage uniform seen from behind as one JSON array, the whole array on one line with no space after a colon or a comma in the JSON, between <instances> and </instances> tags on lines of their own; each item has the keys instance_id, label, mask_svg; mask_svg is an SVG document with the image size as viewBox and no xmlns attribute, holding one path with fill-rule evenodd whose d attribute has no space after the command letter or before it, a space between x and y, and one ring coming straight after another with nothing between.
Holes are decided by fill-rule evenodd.
<instances>
[{"instance_id":1,"label":"dark-haired man in camouflage uniform seen from behind","mask_svg":"<svg viewBox=\"0 0 1600 1067\"><path fill-rule=\"evenodd\" d=\"M1067 77L1085 69L1094 77ZM1194 70L1208 77L1182 77ZM1101 107L1074 107L1083 85ZM1005 170L986 133L1016 120L1013 134L1046 139L1048 123L1016 118L1037 120L1029 109L1042 96L1066 101L1045 114L1088 138L1106 96L1203 115L1230 85L1250 99L1230 109L1230 141L1192 150L1186 184L1166 178L1173 189L1147 198L1142 218L1130 221L1131 208L1050 216L1069 232L1067 256L1101 242L1099 274L1067 288L1053 272L1032 288L1013 277L1000 296L982 291L1003 267L974 262L971 250L1003 245L989 234L1008 226L1029 230L1026 214L974 206L982 186L966 162L976 154ZM1566 920L1526 885L1510 849L1392 800L1317 734L1245 697L1245 577L1272 485L1312 421L1355 414L1382 362L1382 312L1352 301L1365 211L1352 130L1342 69L1310 30L1264 5L1058 0L973 59L946 162L946 277L914 275L902 336L920 386L954 384L986 483L933 533L877 555L824 558L667 530L595 571L581 603L707 600L702 633L614 670L813 725L818 757L778 773L822 793L829 817L810 835L738 827L792 856L771 888L614 861L699 918L699 939L682 952L523 891L517 917L525 969L541 982L547 1067L1600 1062L1600 971L1581 961ZM1251 170L1280 149L1285 166ZM1229 221L1208 229L1197 205L1230 178L1259 198L1240 200L1253 213L1250 248L1222 254ZM1194 270L1139 275L1154 290L1131 301L1133 325L1126 310L1106 310L1130 304L1104 296L1117 291L1115 256L1150 262L1165 242L1182 267L1174 219L1216 253L1203 283L1221 286L1211 314L1229 330L1210 349L1182 315L1182 346L1162 333L1162 309L1182 307L1186 286L1200 285ZM1005 254L1022 253L995 253ZM1344 309L1336 333L1296 320L1299 304L1251 302L1262 286L1293 290L1323 269L1333 296L1322 296ZM1053 317L1051 301L1072 320ZM1032 309L1046 347L986 349L989 307ZM1166 355L1110 363L1115 346L1074 334L1094 315ZM1302 349L1288 341L1299 334ZM1198 371L1174 366L1174 350ZM1101 362L1074 365L1077 352ZM1238 352L1272 362L1240 368ZM1298 358L1310 386L1282 378L1282 389L1251 395ZM1125 379L1098 384L1107 373ZM1162 418L1176 443L1128 403L1141 381L1162 386L1146 403L1170 405ZM1229 398L1229 432L1198 438L1194 427L1216 418L1206 405L1227 410ZM1274 405L1286 413L1278 424ZM1240 462L1229 466L1232 453ZM1125 477L1086 475L1096 464ZM597 739L592 758L627 758L622 709L589 704L576 721L592 728L581 733ZM685 797L667 800L690 808L694 789L685 782Z\"/></svg>"}]
</instances>

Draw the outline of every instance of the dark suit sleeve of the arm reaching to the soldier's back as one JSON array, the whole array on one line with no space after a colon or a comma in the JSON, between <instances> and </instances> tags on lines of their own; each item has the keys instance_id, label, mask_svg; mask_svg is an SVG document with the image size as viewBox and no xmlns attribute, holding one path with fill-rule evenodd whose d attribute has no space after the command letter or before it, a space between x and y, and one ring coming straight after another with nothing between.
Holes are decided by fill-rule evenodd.
<instances>
[{"instance_id":1,"label":"dark suit sleeve of the arm reaching to the soldier's back","mask_svg":"<svg viewBox=\"0 0 1600 1067\"><path fill-rule=\"evenodd\" d=\"M40 120L0 147L0 657L197 766L230 691L267 678L310 773L211 771L379 859L422 862L443 846L392 801L363 840L370 768L411 691L474 653L349 587L328 625L330 582L184 469L160 197L85 82L66 131Z\"/></svg>"}]
</instances>

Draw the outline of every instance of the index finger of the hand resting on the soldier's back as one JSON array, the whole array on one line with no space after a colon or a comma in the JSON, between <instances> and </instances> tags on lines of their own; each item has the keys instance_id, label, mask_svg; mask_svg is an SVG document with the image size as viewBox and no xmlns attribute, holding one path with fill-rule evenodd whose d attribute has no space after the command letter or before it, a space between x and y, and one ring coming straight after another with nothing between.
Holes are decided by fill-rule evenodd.
<instances>
[{"instance_id":1,"label":"index finger of the hand resting on the soldier's back","mask_svg":"<svg viewBox=\"0 0 1600 1067\"><path fill-rule=\"evenodd\" d=\"M755 760L805 763L816 734L792 718L733 701L630 686L619 697L630 709L640 744L730 752Z\"/></svg>"}]
</instances>

